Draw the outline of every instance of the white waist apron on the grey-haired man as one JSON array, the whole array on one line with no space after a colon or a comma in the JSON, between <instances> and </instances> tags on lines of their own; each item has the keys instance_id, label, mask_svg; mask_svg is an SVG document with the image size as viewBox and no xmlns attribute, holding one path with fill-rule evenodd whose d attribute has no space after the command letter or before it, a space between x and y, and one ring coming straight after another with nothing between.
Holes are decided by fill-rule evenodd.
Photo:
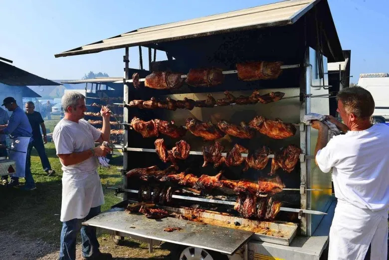
<instances>
[{"instance_id":1,"label":"white waist apron on the grey-haired man","mask_svg":"<svg viewBox=\"0 0 389 260\"><path fill-rule=\"evenodd\" d=\"M104 204L103 188L97 171L63 173L61 221L84 219L91 208Z\"/></svg>"}]
</instances>

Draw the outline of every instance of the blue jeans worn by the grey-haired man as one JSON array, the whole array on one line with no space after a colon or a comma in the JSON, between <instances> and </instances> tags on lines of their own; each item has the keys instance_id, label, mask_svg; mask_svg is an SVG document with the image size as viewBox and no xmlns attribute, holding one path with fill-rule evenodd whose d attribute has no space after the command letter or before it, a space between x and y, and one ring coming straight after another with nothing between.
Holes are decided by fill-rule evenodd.
<instances>
[{"instance_id":1,"label":"blue jeans worn by the grey-haired man","mask_svg":"<svg viewBox=\"0 0 389 260\"><path fill-rule=\"evenodd\" d=\"M96 237L96 227L82 226L81 223L97 216L101 212L101 207L91 208L85 219L72 219L62 224L61 248L59 250L59 260L76 260L76 238L81 230L82 255L90 258L98 254L100 244Z\"/></svg>"}]
</instances>

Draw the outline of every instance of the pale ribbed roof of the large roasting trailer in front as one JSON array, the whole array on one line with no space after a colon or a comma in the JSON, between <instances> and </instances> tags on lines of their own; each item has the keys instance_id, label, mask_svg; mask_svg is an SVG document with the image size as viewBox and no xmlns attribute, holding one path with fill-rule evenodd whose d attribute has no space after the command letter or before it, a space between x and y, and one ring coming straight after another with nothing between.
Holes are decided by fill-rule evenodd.
<instances>
[{"instance_id":1,"label":"pale ribbed roof of the large roasting trailer in front","mask_svg":"<svg viewBox=\"0 0 389 260\"><path fill-rule=\"evenodd\" d=\"M185 21L140 28L55 54L55 57L95 53L103 50L194 38L228 31L293 24L319 1L321 0L287 0Z\"/></svg>"}]
</instances>

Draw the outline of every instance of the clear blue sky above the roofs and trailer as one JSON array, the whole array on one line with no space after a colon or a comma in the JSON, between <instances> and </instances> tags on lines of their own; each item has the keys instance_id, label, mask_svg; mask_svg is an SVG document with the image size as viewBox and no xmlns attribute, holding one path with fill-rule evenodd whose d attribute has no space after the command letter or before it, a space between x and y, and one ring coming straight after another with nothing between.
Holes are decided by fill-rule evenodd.
<instances>
[{"instance_id":1,"label":"clear blue sky above the roofs and trailer","mask_svg":"<svg viewBox=\"0 0 389 260\"><path fill-rule=\"evenodd\" d=\"M122 49L61 58L54 54L139 27L270 2L274 0L0 0L0 56L50 79L79 79L90 70L121 77ZM389 72L389 1L329 3L342 47L352 50L351 81L357 82L360 73ZM138 68L135 48L130 57L130 66Z\"/></svg>"}]
</instances>

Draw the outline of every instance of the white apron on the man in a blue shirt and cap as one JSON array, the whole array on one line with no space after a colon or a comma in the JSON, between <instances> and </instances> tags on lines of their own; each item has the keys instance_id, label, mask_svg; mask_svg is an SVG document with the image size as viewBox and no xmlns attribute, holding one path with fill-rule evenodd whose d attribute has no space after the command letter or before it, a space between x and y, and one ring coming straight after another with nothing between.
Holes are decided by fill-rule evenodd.
<instances>
[{"instance_id":1,"label":"white apron on the man in a blue shirt and cap","mask_svg":"<svg viewBox=\"0 0 389 260\"><path fill-rule=\"evenodd\" d=\"M16 173L12 177L23 177L25 175L25 164L27 157L28 144L31 137L17 137L11 139L11 150L8 158L15 160Z\"/></svg>"}]
</instances>

